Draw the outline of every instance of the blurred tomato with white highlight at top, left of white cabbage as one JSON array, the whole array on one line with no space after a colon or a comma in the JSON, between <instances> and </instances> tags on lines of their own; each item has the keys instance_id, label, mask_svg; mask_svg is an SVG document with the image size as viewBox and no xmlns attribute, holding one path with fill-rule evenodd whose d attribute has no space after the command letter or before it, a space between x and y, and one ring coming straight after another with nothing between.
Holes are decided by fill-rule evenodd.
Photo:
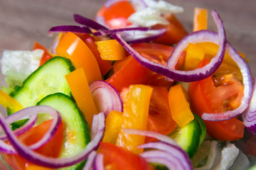
<instances>
[{"instance_id":1,"label":"blurred tomato with white highlight at top, left of white cabbage","mask_svg":"<svg viewBox=\"0 0 256 170\"><path fill-rule=\"evenodd\" d=\"M127 19L134 12L134 7L129 1L116 1L109 7L103 6L96 17L103 17L109 28L124 28L132 25Z\"/></svg>"}]
</instances>

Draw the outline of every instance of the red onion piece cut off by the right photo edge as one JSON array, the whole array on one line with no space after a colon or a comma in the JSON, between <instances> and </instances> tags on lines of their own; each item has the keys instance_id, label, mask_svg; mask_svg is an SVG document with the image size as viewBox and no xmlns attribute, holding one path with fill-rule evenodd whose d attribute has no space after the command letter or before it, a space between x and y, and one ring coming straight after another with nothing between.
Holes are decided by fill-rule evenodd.
<instances>
[{"instance_id":1,"label":"red onion piece cut off by the right photo edge","mask_svg":"<svg viewBox=\"0 0 256 170\"><path fill-rule=\"evenodd\" d=\"M249 108L242 114L242 120L247 130L252 134L256 134L256 77L252 91L252 99Z\"/></svg>"}]
</instances>

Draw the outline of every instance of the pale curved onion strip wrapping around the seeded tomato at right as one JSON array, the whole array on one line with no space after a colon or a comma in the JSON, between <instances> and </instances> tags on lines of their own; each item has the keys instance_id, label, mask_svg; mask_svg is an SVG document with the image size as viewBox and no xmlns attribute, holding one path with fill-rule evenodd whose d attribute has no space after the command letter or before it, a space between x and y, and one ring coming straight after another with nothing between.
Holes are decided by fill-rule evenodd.
<instances>
[{"instance_id":1,"label":"pale curved onion strip wrapping around the seeded tomato at right","mask_svg":"<svg viewBox=\"0 0 256 170\"><path fill-rule=\"evenodd\" d=\"M242 83L244 84L244 96L242 97L240 106L233 111L225 111L223 113L203 113L203 120L219 121L234 118L246 110L252 98L252 74L247 62L245 62L245 60L238 54L238 52L229 42L227 43L226 51L240 68L240 72L242 74ZM250 114L249 117L251 117ZM245 121L246 120L250 120L250 118L245 118Z\"/></svg>"}]
</instances>

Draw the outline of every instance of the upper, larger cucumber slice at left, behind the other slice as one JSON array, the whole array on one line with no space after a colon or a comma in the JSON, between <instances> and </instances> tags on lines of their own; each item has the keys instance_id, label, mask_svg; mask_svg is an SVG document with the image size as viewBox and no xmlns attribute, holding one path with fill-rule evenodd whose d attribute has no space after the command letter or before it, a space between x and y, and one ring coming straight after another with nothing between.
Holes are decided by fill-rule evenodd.
<instances>
[{"instance_id":1,"label":"upper, larger cucumber slice at left, behind the other slice","mask_svg":"<svg viewBox=\"0 0 256 170\"><path fill-rule=\"evenodd\" d=\"M23 85L17 88L11 96L21 103L23 108L35 106L48 94L60 92L70 96L71 92L65 75L74 69L70 60L64 57L53 57L23 81ZM14 111L8 108L8 114L11 113ZM19 128L23 123L24 120L17 121L13 123L13 128Z\"/></svg>"}]
</instances>

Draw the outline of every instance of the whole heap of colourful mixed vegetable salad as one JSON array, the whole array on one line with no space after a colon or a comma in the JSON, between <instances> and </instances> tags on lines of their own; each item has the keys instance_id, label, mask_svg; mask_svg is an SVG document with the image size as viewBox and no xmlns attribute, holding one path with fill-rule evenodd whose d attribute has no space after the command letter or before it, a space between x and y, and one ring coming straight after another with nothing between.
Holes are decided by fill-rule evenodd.
<instances>
[{"instance_id":1,"label":"whole heap of colourful mixed vegetable salad","mask_svg":"<svg viewBox=\"0 0 256 170\"><path fill-rule=\"evenodd\" d=\"M155 0L108 0L95 20L55 26L49 50L4 50L1 166L9 169L249 169L235 142L255 129L255 82L244 54L208 30L193 33ZM252 147L253 148L253 147ZM253 168L253 167L252 167Z\"/></svg>"}]
</instances>

